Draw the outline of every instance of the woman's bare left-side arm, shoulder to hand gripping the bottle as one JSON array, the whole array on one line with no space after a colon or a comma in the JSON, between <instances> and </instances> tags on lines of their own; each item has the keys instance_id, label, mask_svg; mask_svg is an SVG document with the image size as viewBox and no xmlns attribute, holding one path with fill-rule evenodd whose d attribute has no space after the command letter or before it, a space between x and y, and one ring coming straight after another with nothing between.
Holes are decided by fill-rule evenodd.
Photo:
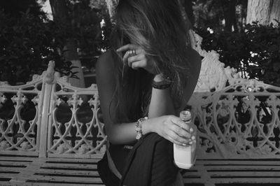
<instances>
[{"instance_id":1,"label":"woman's bare left-side arm, shoulder to hand gripping the bottle","mask_svg":"<svg viewBox=\"0 0 280 186\"><path fill-rule=\"evenodd\" d=\"M135 141L136 137L135 122L116 124L113 120L111 120L111 116L114 117L114 115L116 115L113 109L111 109L111 112L109 111L110 104L112 108L116 106L114 101L111 103L113 92L116 87L115 77L113 75L116 69L114 69L111 51L108 51L99 57L96 70L99 98L105 123L105 130L109 141L115 144L132 143ZM184 130L182 130L181 127L183 127ZM188 139L181 138L180 136L190 136L187 132L188 129L188 125L185 125L184 122L179 120L179 117L175 117L173 115L151 118L142 124L143 134L156 132L160 136L172 141L172 143L179 145L188 143Z\"/></svg>"}]
</instances>

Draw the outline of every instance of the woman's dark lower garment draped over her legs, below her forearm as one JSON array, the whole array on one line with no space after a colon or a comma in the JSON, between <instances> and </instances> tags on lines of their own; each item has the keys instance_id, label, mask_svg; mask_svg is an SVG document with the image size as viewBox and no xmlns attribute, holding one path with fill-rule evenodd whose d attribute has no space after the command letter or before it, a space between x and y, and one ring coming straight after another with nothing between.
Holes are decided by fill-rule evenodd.
<instances>
[{"instance_id":1,"label":"woman's dark lower garment draped over her legs, below her forearm","mask_svg":"<svg viewBox=\"0 0 280 186\"><path fill-rule=\"evenodd\" d=\"M113 161L118 161L114 158L118 156L112 153ZM126 157L120 158L122 161L123 167L116 163L123 176L121 180L109 170L106 156L98 163L98 171L105 185L172 185L179 171L174 165L173 144L155 133L143 136Z\"/></svg>"}]
</instances>

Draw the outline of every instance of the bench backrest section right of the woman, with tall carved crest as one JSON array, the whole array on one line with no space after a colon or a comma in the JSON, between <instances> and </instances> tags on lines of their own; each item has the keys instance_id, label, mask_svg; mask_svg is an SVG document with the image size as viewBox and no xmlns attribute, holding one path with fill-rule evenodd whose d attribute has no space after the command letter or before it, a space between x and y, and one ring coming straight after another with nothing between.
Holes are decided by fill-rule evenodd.
<instances>
[{"instance_id":1,"label":"bench backrest section right of the woman, with tall carved crest","mask_svg":"<svg viewBox=\"0 0 280 186\"><path fill-rule=\"evenodd\" d=\"M204 57L200 78L188 105L200 136L200 159L280 158L280 87L240 78L212 50Z\"/></svg>"}]
</instances>

